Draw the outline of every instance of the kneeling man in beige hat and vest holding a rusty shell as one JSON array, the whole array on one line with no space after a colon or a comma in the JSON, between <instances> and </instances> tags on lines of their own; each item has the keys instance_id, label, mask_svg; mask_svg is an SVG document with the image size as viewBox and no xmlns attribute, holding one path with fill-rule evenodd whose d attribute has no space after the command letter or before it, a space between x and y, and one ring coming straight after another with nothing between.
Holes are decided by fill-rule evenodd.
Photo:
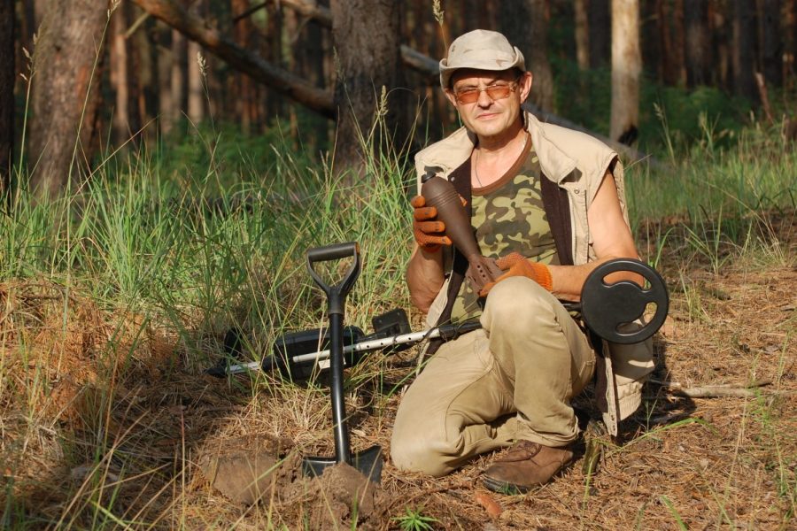
<instances>
[{"instance_id":1,"label":"kneeling man in beige hat and vest holding a rusty shell","mask_svg":"<svg viewBox=\"0 0 797 531\"><path fill-rule=\"evenodd\" d=\"M616 153L522 112L531 82L520 50L496 32L461 35L440 61L440 83L463 127L417 155L419 186L426 173L452 181L482 254L506 273L476 293L437 212L413 198L413 303L429 326L478 315L483 329L429 359L399 405L391 442L396 466L435 476L511 445L484 473L498 492L526 492L573 458L579 428L569 400L596 366L596 396L613 434L637 409L653 369L650 342L593 342L560 302L577 300L596 266L638 253ZM606 356L596 356L601 347Z\"/></svg>"}]
</instances>

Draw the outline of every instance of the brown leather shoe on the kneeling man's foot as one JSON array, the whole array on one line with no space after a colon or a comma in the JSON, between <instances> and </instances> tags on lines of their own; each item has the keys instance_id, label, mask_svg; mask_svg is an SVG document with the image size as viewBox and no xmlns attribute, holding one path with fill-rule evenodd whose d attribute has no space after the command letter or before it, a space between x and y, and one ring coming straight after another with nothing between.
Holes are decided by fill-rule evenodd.
<instances>
[{"instance_id":1,"label":"brown leather shoe on the kneeling man's foot","mask_svg":"<svg viewBox=\"0 0 797 531\"><path fill-rule=\"evenodd\" d=\"M524 494L550 481L572 458L567 448L520 440L484 472L484 486L501 494Z\"/></svg>"}]
</instances>

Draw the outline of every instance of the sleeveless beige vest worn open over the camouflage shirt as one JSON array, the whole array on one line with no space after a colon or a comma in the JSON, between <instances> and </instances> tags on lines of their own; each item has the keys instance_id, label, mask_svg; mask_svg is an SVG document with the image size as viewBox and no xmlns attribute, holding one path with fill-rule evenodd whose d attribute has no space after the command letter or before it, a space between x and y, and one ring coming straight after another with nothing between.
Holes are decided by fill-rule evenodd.
<instances>
[{"instance_id":1,"label":"sleeveless beige vest worn open over the camouflage shirt","mask_svg":"<svg viewBox=\"0 0 797 531\"><path fill-rule=\"evenodd\" d=\"M600 182L607 170L615 178L623 218L628 224L623 165L614 150L590 135L542 123L528 112L524 119L543 175L567 192L573 262L576 266L586 264L596 258L587 223L587 210L598 193ZM419 152L415 156L418 193L421 189L421 177L426 173L427 167L435 167L437 175L447 179L453 170L470 157L475 144L475 135L461 127L444 140ZM446 251L444 266L448 277L453 260L450 249ZM435 326L445 307L447 288L448 278L429 308L427 322L430 327ZM653 341L648 339L646 342L631 345L604 342L603 346L603 351L609 352L610 356L598 358L596 396L609 433L616 435L619 420L635 412L641 403L642 384L646 375L654 368Z\"/></svg>"}]
</instances>

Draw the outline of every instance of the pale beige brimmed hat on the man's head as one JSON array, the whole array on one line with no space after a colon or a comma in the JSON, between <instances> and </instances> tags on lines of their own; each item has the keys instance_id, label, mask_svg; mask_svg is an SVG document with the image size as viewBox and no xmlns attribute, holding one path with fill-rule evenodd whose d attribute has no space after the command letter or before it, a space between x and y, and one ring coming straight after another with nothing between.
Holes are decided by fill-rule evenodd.
<instances>
[{"instance_id":1,"label":"pale beige brimmed hat on the man's head","mask_svg":"<svg viewBox=\"0 0 797 531\"><path fill-rule=\"evenodd\" d=\"M460 35L448 47L448 57L440 61L440 86L449 88L451 76L460 68L477 70L526 71L521 50L513 46L502 34L487 29L475 29Z\"/></svg>"}]
</instances>

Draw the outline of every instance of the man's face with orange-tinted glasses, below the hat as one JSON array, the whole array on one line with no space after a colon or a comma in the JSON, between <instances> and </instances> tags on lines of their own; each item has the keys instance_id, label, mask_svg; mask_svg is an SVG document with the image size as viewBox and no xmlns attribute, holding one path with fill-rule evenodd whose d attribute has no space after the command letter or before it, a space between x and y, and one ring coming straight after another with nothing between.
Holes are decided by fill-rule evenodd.
<instances>
[{"instance_id":1,"label":"man's face with orange-tinted glasses, below the hat","mask_svg":"<svg viewBox=\"0 0 797 531\"><path fill-rule=\"evenodd\" d=\"M514 70L460 70L454 73L453 89L446 90L445 96L460 112L465 127L480 138L514 135L520 106L531 90L531 73L516 75ZM507 89L508 95L501 97ZM468 103L474 96L476 101Z\"/></svg>"}]
</instances>

